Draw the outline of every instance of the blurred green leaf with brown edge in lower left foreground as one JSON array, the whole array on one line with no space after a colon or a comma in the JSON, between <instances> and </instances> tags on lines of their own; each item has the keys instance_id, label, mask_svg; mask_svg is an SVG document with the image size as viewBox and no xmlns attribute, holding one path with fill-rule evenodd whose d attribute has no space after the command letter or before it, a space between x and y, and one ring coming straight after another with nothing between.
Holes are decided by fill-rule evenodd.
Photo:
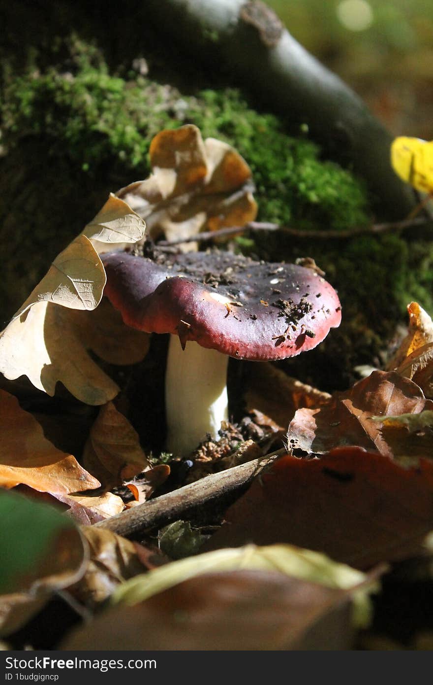
<instances>
[{"instance_id":1,"label":"blurred green leaf with brown edge in lower left foreground","mask_svg":"<svg viewBox=\"0 0 433 685\"><path fill-rule=\"evenodd\" d=\"M77 527L46 504L0 494L0 635L18 630L55 590L77 582L88 545Z\"/></svg>"}]
</instances>

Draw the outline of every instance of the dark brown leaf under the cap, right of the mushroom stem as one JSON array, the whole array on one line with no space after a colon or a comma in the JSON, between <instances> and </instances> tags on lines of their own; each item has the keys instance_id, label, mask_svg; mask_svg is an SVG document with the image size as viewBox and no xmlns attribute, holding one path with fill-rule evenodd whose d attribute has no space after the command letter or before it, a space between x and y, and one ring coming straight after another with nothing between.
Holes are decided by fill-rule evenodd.
<instances>
[{"instance_id":1,"label":"dark brown leaf under the cap, right of the mushroom stem","mask_svg":"<svg viewBox=\"0 0 433 685\"><path fill-rule=\"evenodd\" d=\"M270 362L252 362L246 374L244 395L248 412L259 410L287 429L301 407L319 407L330 395L291 378Z\"/></svg>"}]
</instances>

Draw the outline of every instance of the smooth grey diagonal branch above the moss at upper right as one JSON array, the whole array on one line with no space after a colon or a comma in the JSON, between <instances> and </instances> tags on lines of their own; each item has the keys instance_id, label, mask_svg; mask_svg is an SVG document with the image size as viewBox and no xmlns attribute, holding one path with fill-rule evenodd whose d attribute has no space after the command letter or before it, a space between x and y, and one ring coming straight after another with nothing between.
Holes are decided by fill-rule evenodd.
<instances>
[{"instance_id":1,"label":"smooth grey diagonal branch above the moss at upper right","mask_svg":"<svg viewBox=\"0 0 433 685\"><path fill-rule=\"evenodd\" d=\"M391 168L391 134L259 0L147 0L146 17L164 42L211 73L223 69L267 110L308 124L313 138L366 179L389 217L403 219L417 203Z\"/></svg>"}]
</instances>

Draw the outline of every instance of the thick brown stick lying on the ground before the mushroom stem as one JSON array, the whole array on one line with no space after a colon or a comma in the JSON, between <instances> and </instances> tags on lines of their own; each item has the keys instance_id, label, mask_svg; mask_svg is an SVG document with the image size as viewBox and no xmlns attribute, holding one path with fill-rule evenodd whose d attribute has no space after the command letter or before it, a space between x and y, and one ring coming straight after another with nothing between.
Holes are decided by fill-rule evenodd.
<instances>
[{"instance_id":1,"label":"thick brown stick lying on the ground before the mushroom stem","mask_svg":"<svg viewBox=\"0 0 433 685\"><path fill-rule=\"evenodd\" d=\"M285 449L253 459L232 469L213 473L171 493L155 497L148 502L128 509L105 521L94 523L96 527L111 530L125 538L156 526L163 526L185 516L192 509L206 502L219 499L240 486L248 484L276 458L287 453Z\"/></svg>"}]
</instances>

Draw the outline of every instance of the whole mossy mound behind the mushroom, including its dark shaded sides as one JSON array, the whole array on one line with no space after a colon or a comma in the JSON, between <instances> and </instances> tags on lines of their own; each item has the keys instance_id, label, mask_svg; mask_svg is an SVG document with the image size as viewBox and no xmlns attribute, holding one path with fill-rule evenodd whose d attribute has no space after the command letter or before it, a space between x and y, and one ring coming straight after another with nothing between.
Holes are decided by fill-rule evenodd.
<instances>
[{"instance_id":1,"label":"whole mossy mound behind the mushroom, including its dark shaded sides","mask_svg":"<svg viewBox=\"0 0 433 685\"><path fill-rule=\"evenodd\" d=\"M326 238L329 230L367 226L373 209L362 179L324 160L308 132L289 135L237 90L184 95L148 77L143 60L115 73L96 47L78 38L59 41L56 54L43 69L34 55L18 75L8 66L3 72L0 225L10 245L0 286L3 320L108 192L146 177L153 136L184 123L244 156L257 186L259 219L323 231L314 241L278 233L239 247L271 259L311 256L339 288L344 324L316 354L319 362L327 349L341 357L335 369L328 366L326 386L345 386L354 364L374 362L411 299L433 310L430 243L397 234ZM336 380L343 358L345 372Z\"/></svg>"}]
</instances>

